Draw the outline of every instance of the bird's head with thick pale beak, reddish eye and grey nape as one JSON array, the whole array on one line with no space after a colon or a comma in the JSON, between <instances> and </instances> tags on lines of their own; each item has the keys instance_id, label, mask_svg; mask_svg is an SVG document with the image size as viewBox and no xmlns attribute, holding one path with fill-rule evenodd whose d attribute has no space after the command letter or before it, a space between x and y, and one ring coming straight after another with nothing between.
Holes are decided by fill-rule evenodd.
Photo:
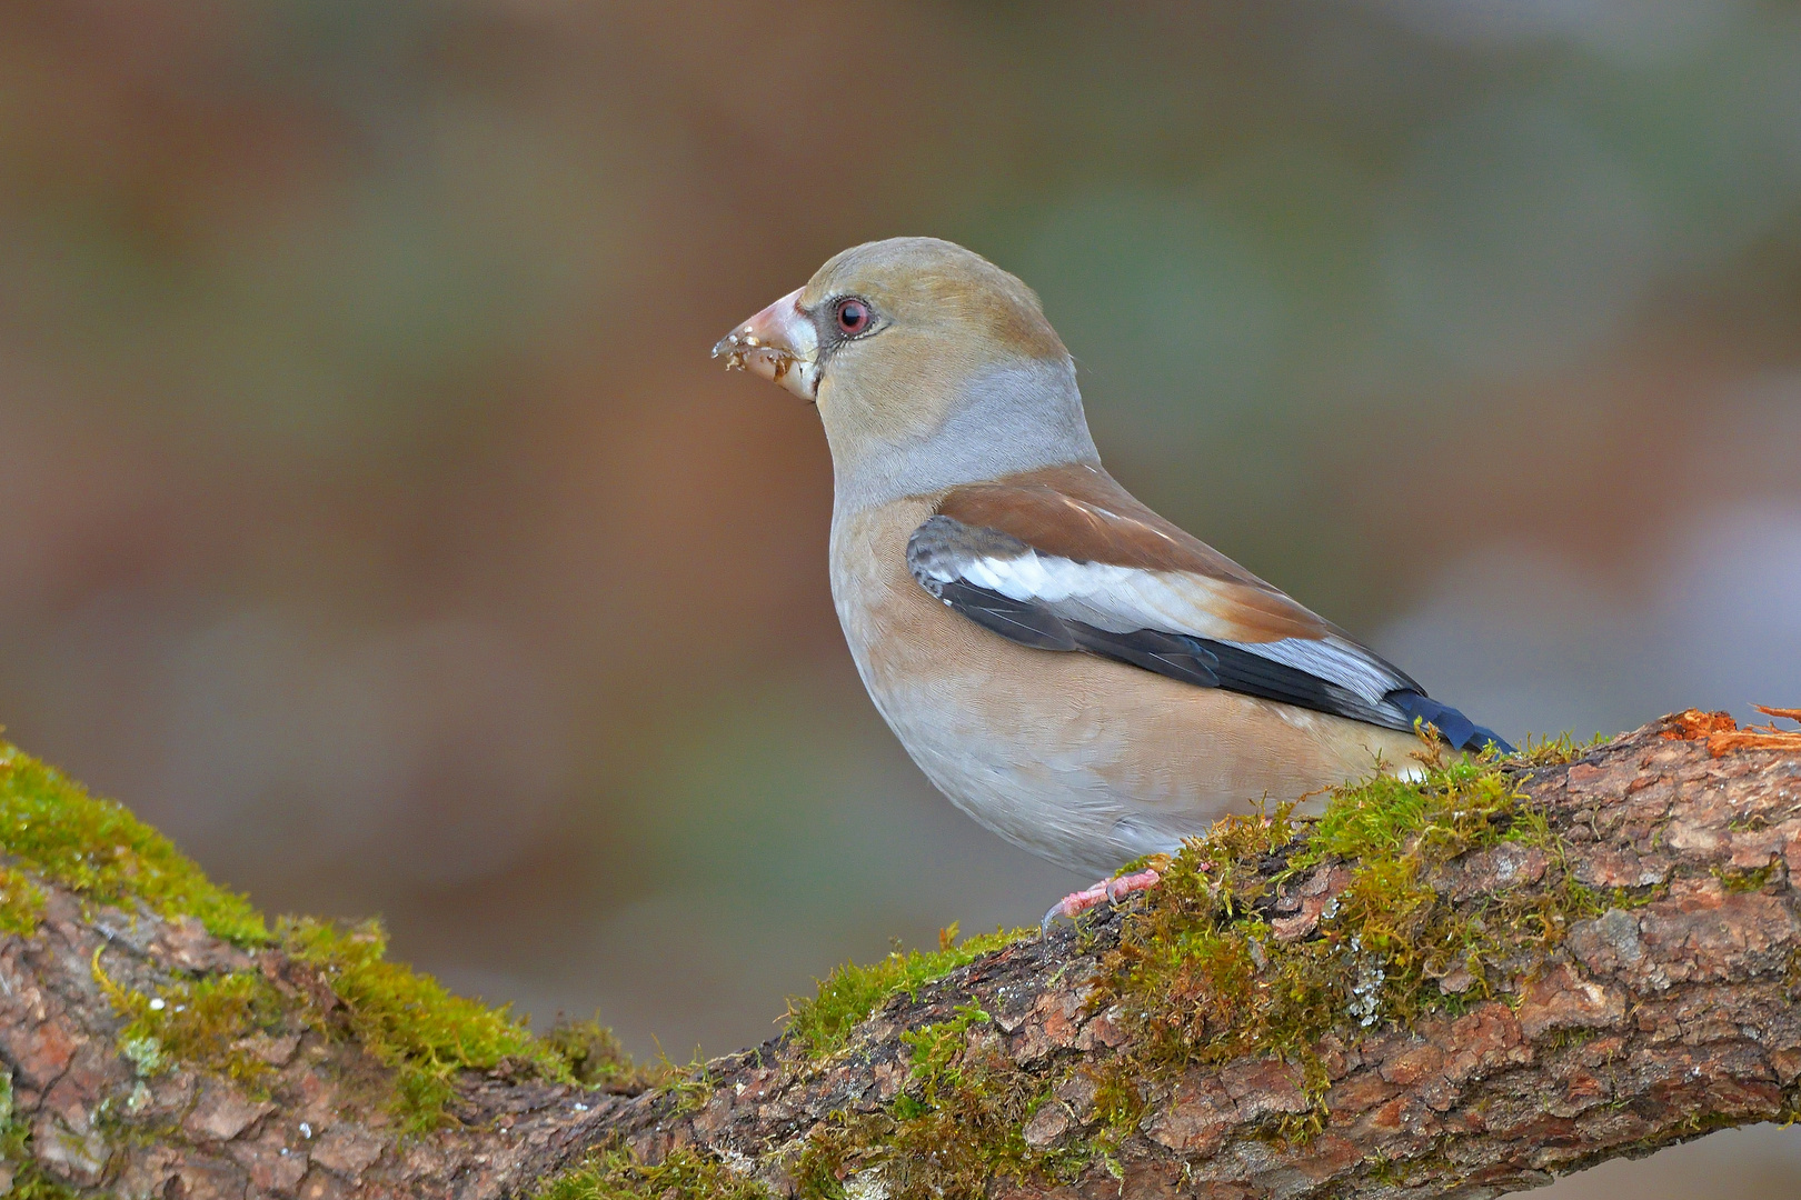
<instances>
[{"instance_id":1,"label":"bird's head with thick pale beak, reddish eye and grey nape","mask_svg":"<svg viewBox=\"0 0 1801 1200\"><path fill-rule=\"evenodd\" d=\"M1075 367L1037 295L937 237L834 255L713 354L819 405L841 500L1093 459Z\"/></svg>"}]
</instances>

